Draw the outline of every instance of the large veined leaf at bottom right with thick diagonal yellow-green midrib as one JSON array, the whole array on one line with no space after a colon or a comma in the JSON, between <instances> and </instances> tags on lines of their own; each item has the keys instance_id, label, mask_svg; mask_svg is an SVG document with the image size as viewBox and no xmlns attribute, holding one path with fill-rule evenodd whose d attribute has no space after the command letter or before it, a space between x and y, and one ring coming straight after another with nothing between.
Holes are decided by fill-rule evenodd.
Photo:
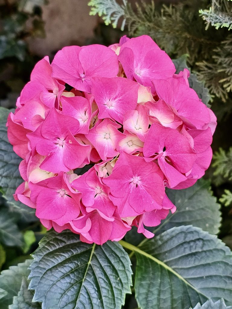
<instances>
[{"instance_id":1,"label":"large veined leaf at bottom right with thick diagonal yellow-green midrib","mask_svg":"<svg viewBox=\"0 0 232 309\"><path fill-rule=\"evenodd\" d=\"M232 302L232 255L215 235L180 226L135 247L135 296L141 309L180 309L224 298Z\"/></svg>"}]
</instances>

